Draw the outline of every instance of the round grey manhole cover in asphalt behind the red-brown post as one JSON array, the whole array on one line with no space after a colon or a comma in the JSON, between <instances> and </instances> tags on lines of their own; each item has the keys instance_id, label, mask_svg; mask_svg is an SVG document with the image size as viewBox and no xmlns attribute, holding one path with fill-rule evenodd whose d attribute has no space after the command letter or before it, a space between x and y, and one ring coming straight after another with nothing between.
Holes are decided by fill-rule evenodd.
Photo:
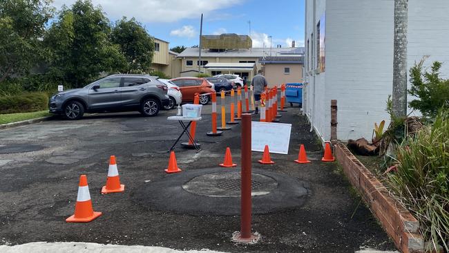
<instances>
[{"instance_id":1,"label":"round grey manhole cover in asphalt behind the red-brown post","mask_svg":"<svg viewBox=\"0 0 449 253\"><path fill-rule=\"evenodd\" d=\"M278 187L278 182L269 176L253 173L251 177L252 196L269 194ZM225 171L197 176L182 185L182 188L202 196L239 197L241 185L240 171Z\"/></svg>"}]
</instances>

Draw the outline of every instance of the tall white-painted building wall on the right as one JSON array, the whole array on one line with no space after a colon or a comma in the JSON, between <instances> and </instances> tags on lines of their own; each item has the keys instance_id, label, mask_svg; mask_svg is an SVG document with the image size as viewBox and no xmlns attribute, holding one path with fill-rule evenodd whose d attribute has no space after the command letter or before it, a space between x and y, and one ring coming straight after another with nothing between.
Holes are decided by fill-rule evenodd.
<instances>
[{"instance_id":1,"label":"tall white-painted building wall on the right","mask_svg":"<svg viewBox=\"0 0 449 253\"><path fill-rule=\"evenodd\" d=\"M304 113L329 140L330 101L337 100L338 139L370 140L374 122L389 120L394 0L305 2ZM408 69L428 56L426 66L443 62L448 78L449 1L409 0L408 7Z\"/></svg>"}]
</instances>

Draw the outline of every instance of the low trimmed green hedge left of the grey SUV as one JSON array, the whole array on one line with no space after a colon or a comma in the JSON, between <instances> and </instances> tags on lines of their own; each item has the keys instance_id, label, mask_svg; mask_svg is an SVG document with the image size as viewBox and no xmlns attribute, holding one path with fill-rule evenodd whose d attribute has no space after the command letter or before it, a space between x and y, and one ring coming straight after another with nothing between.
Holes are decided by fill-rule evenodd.
<instances>
[{"instance_id":1,"label":"low trimmed green hedge left of the grey SUV","mask_svg":"<svg viewBox=\"0 0 449 253\"><path fill-rule=\"evenodd\" d=\"M48 95L44 92L22 93L0 97L0 114L28 113L48 109Z\"/></svg>"}]
</instances>

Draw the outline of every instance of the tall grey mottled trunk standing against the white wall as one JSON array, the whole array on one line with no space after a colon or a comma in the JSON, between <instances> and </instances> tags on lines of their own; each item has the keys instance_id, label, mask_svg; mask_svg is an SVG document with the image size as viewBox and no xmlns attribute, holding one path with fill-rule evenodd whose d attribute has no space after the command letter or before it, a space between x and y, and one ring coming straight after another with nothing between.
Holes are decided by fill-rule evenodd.
<instances>
[{"instance_id":1,"label":"tall grey mottled trunk standing against the white wall","mask_svg":"<svg viewBox=\"0 0 449 253\"><path fill-rule=\"evenodd\" d=\"M407 115L408 0L394 0L393 113Z\"/></svg>"}]
</instances>

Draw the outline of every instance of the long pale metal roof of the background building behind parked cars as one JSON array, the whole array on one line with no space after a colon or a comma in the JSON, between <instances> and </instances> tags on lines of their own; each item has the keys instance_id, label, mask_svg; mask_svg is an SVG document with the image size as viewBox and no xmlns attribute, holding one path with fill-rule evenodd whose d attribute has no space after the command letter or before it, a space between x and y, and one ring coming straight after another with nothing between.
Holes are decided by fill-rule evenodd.
<instances>
[{"instance_id":1,"label":"long pale metal roof of the background building behind parked cars","mask_svg":"<svg viewBox=\"0 0 449 253\"><path fill-rule=\"evenodd\" d=\"M178 57L198 57L200 53L199 48L186 48ZM270 55L270 48L250 48L250 49L236 49L225 50L218 52L216 50L202 49L202 57L248 57L259 58ZM298 56L304 55L304 48L271 48L271 55L273 56Z\"/></svg>"}]
</instances>

